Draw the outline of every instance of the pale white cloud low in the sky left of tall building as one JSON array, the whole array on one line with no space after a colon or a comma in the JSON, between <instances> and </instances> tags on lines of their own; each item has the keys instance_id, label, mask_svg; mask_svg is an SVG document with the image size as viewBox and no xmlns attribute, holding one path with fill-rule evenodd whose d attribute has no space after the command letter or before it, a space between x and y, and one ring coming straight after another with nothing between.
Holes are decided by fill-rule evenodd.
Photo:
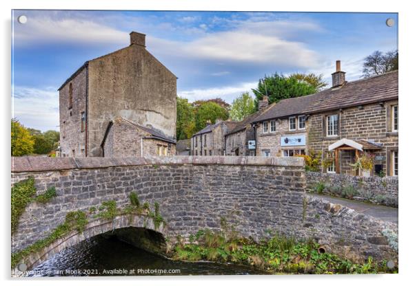
<instances>
[{"instance_id":1,"label":"pale white cloud low in the sky left of tall building","mask_svg":"<svg viewBox=\"0 0 415 286\"><path fill-rule=\"evenodd\" d=\"M14 87L12 94L12 118L41 131L59 130L59 92L56 89Z\"/></svg>"}]
</instances>

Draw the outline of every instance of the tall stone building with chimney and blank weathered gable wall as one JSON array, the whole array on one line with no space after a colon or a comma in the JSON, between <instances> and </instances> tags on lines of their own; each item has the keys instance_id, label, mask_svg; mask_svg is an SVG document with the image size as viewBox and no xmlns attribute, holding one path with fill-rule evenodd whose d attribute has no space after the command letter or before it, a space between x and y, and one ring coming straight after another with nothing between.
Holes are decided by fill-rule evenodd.
<instances>
[{"instance_id":1,"label":"tall stone building with chimney and blank weathered gable wall","mask_svg":"<svg viewBox=\"0 0 415 286\"><path fill-rule=\"evenodd\" d=\"M176 76L145 49L145 34L131 32L128 47L85 62L65 80L59 87L59 113L63 157L105 155L104 137L117 117L136 124L140 130L161 134L153 140L162 137L164 141L160 142L169 140L169 144L174 144ZM130 144L138 144L141 140L136 140L137 133L130 131L114 133L115 140L120 136L133 137ZM132 145L131 148L137 148ZM125 157L131 153L107 149L106 155Z\"/></svg>"}]
</instances>

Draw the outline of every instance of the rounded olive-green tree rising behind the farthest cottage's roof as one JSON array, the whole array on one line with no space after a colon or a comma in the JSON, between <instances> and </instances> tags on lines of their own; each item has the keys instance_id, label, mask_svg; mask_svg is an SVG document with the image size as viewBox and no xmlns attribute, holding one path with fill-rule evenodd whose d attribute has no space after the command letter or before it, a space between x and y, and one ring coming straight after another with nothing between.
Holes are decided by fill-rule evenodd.
<instances>
[{"instance_id":1,"label":"rounded olive-green tree rising behind the farthest cottage's roof","mask_svg":"<svg viewBox=\"0 0 415 286\"><path fill-rule=\"evenodd\" d=\"M206 122L210 121L212 124L217 119L227 120L229 113L226 109L221 107L216 102L204 102L196 109L196 132L205 128Z\"/></svg>"}]
</instances>

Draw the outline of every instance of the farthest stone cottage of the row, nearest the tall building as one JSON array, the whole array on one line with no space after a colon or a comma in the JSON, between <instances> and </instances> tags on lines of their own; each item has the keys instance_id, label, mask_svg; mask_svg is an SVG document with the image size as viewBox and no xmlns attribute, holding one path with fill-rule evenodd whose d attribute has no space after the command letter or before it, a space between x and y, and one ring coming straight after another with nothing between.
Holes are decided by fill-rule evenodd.
<instances>
[{"instance_id":1,"label":"farthest stone cottage of the row, nearest the tall building","mask_svg":"<svg viewBox=\"0 0 415 286\"><path fill-rule=\"evenodd\" d=\"M207 122L207 126L194 133L190 139L190 155L212 156L225 155L225 134L233 129L236 122L216 120L215 124Z\"/></svg>"}]
</instances>

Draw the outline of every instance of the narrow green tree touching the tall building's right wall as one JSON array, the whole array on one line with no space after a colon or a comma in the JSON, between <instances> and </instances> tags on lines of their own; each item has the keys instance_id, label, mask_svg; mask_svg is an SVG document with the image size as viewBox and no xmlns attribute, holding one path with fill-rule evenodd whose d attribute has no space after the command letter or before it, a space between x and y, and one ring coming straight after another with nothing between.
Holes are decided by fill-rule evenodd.
<instances>
[{"instance_id":1,"label":"narrow green tree touching the tall building's right wall","mask_svg":"<svg viewBox=\"0 0 415 286\"><path fill-rule=\"evenodd\" d=\"M183 140L192 137L196 124L194 123L194 107L187 98L177 97L176 139Z\"/></svg>"}]
</instances>

